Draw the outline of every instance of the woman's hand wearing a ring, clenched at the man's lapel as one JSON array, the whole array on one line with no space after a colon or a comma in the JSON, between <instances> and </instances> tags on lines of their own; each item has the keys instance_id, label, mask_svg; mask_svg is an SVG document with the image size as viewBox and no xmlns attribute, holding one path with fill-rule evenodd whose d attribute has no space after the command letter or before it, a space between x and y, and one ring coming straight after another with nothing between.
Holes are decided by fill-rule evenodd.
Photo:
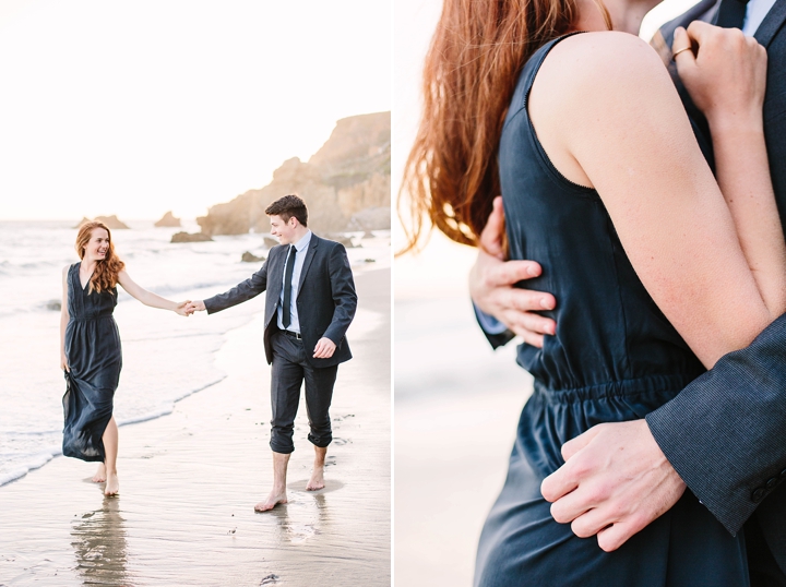
<instances>
[{"instance_id":1,"label":"woman's hand wearing a ring, clenched at the man's lapel","mask_svg":"<svg viewBox=\"0 0 786 587\"><path fill-rule=\"evenodd\" d=\"M681 50L692 47L691 50ZM671 47L680 80L711 124L762 124L766 50L739 28L694 21L675 31Z\"/></svg>"}]
</instances>

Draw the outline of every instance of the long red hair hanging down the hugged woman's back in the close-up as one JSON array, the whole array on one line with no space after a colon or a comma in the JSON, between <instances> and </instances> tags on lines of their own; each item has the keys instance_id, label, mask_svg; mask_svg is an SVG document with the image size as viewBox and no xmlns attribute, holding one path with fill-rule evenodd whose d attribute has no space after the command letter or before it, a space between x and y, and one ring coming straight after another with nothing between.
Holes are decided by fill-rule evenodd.
<instances>
[{"instance_id":1,"label":"long red hair hanging down the hugged woman's back in the close-up","mask_svg":"<svg viewBox=\"0 0 786 587\"><path fill-rule=\"evenodd\" d=\"M398 197L404 251L417 245L426 217L452 240L478 244L500 194L497 152L519 74L535 50L568 33L577 16L575 0L444 1Z\"/></svg>"}]
</instances>

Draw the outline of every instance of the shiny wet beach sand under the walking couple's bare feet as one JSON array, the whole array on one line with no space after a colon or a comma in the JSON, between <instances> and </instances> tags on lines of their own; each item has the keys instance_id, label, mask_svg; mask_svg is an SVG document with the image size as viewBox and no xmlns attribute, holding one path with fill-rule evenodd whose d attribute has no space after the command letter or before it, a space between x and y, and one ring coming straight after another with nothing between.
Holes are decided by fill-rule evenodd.
<instances>
[{"instance_id":1,"label":"shiny wet beach sand under the walking couple's bare feet","mask_svg":"<svg viewBox=\"0 0 786 587\"><path fill-rule=\"evenodd\" d=\"M253 512L272 479L258 314L216 355L226 379L120 428L119 496L90 482L94 464L64 457L0 488L0 585L390 585L390 269L355 278L355 358L338 369L324 490L305 491L301 400L289 503Z\"/></svg>"}]
</instances>

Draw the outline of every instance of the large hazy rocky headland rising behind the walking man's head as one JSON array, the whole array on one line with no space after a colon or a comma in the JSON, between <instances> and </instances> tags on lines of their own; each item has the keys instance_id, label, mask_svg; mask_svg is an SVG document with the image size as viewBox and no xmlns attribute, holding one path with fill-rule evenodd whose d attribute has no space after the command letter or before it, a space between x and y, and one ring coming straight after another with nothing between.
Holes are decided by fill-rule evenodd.
<instances>
[{"instance_id":1,"label":"large hazy rocky headland rising behind the walking man's head","mask_svg":"<svg viewBox=\"0 0 786 587\"><path fill-rule=\"evenodd\" d=\"M242 235L251 229L266 232L265 208L278 197L296 193L309 207L309 228L337 232L367 208L390 211L390 112L361 115L340 120L308 163L297 157L284 161L271 183L212 206L207 216L196 221L207 235ZM368 227L382 228L390 228L390 212L386 226Z\"/></svg>"}]
</instances>

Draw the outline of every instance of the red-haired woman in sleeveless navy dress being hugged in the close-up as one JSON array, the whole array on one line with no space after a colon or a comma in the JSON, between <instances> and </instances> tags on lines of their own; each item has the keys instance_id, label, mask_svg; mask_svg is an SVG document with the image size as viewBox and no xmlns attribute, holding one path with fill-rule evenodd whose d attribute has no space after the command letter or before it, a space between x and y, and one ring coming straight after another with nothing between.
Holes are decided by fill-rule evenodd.
<instances>
[{"instance_id":1,"label":"red-haired woman in sleeveless navy dress being hugged in the close-up","mask_svg":"<svg viewBox=\"0 0 786 587\"><path fill-rule=\"evenodd\" d=\"M410 242L427 215L477 244L501 192L509 256L537 261L527 287L559 300L543 347L519 348L535 388L480 537L478 586L749 584L745 536L690 492L614 552L555 522L540 494L568 440L643 418L786 310L764 50L704 23L676 35L675 52L699 45L678 65L712 131L716 181L635 36L656 3L449 0L427 58Z\"/></svg>"}]
</instances>

